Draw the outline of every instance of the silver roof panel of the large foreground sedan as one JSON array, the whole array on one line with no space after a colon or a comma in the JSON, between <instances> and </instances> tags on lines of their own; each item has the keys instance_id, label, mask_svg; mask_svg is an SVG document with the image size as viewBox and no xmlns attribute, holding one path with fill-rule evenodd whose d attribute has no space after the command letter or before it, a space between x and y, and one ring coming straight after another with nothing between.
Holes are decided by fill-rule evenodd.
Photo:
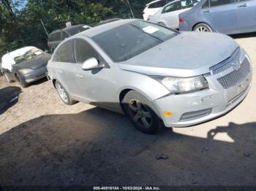
<instances>
[{"instance_id":1,"label":"silver roof panel of the large foreground sedan","mask_svg":"<svg viewBox=\"0 0 256 191\"><path fill-rule=\"evenodd\" d=\"M98 34L102 34L105 31L109 31L110 29L116 28L118 26L122 26L127 23L131 23L132 21L135 21L138 19L124 19L124 20L116 20L111 23L105 23L104 25L101 26L95 26L94 28L90 28L89 30L80 32L79 34L76 34L75 36L88 36L88 37L93 37L97 36Z\"/></svg>"}]
</instances>

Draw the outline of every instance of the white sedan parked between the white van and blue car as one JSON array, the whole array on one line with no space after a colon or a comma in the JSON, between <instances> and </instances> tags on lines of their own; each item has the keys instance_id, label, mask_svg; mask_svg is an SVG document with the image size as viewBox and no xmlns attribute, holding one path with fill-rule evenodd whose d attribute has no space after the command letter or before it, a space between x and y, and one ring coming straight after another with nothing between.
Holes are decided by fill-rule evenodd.
<instances>
[{"instance_id":1,"label":"white sedan parked between the white van and blue car","mask_svg":"<svg viewBox=\"0 0 256 191\"><path fill-rule=\"evenodd\" d=\"M194 7L197 2L198 0L176 0L170 2L159 9L156 14L149 16L148 21L170 28L178 28L178 15Z\"/></svg>"}]
</instances>

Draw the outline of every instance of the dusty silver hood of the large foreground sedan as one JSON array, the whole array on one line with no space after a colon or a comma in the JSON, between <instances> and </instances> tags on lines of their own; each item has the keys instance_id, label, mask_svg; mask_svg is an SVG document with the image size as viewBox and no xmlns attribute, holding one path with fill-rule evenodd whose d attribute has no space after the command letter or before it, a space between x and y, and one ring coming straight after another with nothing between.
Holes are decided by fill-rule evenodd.
<instances>
[{"instance_id":1,"label":"dusty silver hood of the large foreground sedan","mask_svg":"<svg viewBox=\"0 0 256 191\"><path fill-rule=\"evenodd\" d=\"M120 69L142 74L193 77L229 58L239 45L223 34L184 32L135 57Z\"/></svg>"}]
</instances>

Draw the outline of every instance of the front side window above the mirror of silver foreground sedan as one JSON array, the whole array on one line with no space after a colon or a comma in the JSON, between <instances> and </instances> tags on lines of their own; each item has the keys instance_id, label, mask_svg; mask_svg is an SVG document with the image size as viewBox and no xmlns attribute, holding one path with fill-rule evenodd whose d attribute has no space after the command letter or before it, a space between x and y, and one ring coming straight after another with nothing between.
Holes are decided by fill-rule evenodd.
<instances>
[{"instance_id":1,"label":"front side window above the mirror of silver foreground sedan","mask_svg":"<svg viewBox=\"0 0 256 191\"><path fill-rule=\"evenodd\" d=\"M75 40L75 58L77 63L83 63L89 58L96 58L99 62L103 61L94 47L91 47L91 44L83 39Z\"/></svg>"}]
</instances>

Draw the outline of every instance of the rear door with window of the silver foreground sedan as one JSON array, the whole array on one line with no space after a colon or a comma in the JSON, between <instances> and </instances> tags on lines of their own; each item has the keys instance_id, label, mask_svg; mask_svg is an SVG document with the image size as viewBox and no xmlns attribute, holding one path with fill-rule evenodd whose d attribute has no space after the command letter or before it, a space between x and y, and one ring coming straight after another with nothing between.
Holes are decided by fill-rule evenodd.
<instances>
[{"instance_id":1,"label":"rear door with window of the silver foreground sedan","mask_svg":"<svg viewBox=\"0 0 256 191\"><path fill-rule=\"evenodd\" d=\"M58 80L71 95L78 95L78 85L75 77L74 40L61 45L53 55L53 67Z\"/></svg>"}]
</instances>

